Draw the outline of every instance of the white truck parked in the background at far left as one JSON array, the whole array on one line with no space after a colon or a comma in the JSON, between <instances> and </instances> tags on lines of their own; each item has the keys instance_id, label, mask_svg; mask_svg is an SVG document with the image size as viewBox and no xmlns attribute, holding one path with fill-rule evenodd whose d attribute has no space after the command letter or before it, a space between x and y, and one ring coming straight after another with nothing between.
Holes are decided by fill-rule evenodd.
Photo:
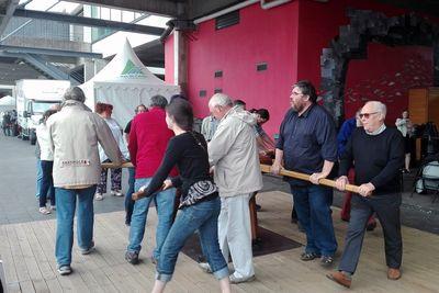
<instances>
[{"instance_id":1,"label":"white truck parked in the background at far left","mask_svg":"<svg viewBox=\"0 0 439 293\"><path fill-rule=\"evenodd\" d=\"M15 82L16 120L23 140L35 144L35 129L43 113L60 103L69 87L68 80L22 79Z\"/></svg>"}]
</instances>

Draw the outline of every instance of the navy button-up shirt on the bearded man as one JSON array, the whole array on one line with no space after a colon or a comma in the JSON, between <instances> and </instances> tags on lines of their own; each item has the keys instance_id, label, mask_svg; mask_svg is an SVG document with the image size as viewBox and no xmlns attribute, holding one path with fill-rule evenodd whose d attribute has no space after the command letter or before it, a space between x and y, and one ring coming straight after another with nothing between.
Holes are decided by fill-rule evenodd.
<instances>
[{"instance_id":1,"label":"navy button-up shirt on the bearded man","mask_svg":"<svg viewBox=\"0 0 439 293\"><path fill-rule=\"evenodd\" d=\"M290 109L282 121L275 146L283 150L286 170L320 172L324 160L337 160L336 127L331 115L320 105L311 105L302 115ZM302 180L289 179L297 185Z\"/></svg>"}]
</instances>

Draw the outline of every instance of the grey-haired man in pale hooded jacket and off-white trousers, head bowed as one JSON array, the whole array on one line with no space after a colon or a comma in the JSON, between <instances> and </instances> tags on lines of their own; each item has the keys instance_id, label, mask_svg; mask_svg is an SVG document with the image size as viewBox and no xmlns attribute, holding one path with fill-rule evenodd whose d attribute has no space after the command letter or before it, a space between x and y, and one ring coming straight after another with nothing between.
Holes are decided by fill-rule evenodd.
<instances>
[{"instance_id":1,"label":"grey-haired man in pale hooded jacket and off-white trousers, head bowed","mask_svg":"<svg viewBox=\"0 0 439 293\"><path fill-rule=\"evenodd\" d=\"M209 160L215 167L214 180L222 205L219 247L226 260L232 255L235 272L230 274L230 282L248 282L255 279L248 202L251 193L262 188L254 129L256 119L233 106L230 98L223 93L211 98L209 110L219 121L209 143Z\"/></svg>"}]
</instances>

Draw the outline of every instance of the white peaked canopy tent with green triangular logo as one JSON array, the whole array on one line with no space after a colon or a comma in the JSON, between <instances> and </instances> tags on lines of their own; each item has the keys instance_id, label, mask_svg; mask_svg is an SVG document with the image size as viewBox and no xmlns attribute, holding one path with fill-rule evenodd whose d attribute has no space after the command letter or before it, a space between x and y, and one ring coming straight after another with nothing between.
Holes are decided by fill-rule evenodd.
<instances>
[{"instance_id":1,"label":"white peaked canopy tent with green triangular logo","mask_svg":"<svg viewBox=\"0 0 439 293\"><path fill-rule=\"evenodd\" d=\"M81 84L86 104L94 110L97 102L113 105L113 115L122 126L134 116L138 104L161 94L166 99L180 92L180 87L168 84L153 75L138 59L127 40L123 49L92 79Z\"/></svg>"}]
</instances>

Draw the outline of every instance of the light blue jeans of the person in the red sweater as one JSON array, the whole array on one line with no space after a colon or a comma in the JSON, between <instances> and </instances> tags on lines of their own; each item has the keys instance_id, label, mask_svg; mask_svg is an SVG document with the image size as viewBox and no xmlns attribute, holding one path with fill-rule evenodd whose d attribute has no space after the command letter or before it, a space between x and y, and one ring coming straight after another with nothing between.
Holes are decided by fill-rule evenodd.
<instances>
[{"instance_id":1,"label":"light blue jeans of the person in the red sweater","mask_svg":"<svg viewBox=\"0 0 439 293\"><path fill-rule=\"evenodd\" d=\"M138 190L143 185L147 185L150 180L151 178L136 179L135 190ZM127 250L137 252L140 251L140 244L145 234L146 217L148 215L149 204L153 200L156 203L158 215L158 224L156 227L156 248L154 249L153 256L154 258L159 259L161 246L164 245L166 236L168 235L172 225L176 189L168 189L158 192L153 196L136 201L134 204L133 215L131 217L130 244Z\"/></svg>"}]
</instances>

